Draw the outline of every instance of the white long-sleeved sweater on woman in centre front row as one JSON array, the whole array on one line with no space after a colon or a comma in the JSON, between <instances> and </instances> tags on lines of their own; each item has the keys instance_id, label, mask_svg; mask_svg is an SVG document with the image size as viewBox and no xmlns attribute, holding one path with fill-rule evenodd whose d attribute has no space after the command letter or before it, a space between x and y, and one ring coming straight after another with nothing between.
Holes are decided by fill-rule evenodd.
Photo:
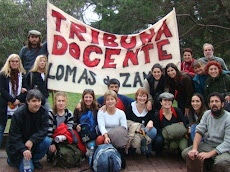
<instances>
[{"instance_id":1,"label":"white long-sleeved sweater on woman in centre front row","mask_svg":"<svg viewBox=\"0 0 230 172\"><path fill-rule=\"evenodd\" d=\"M125 113L117 108L116 112L112 115L108 114L107 111L103 112L99 110L97 114L97 122L101 135L108 133L109 130L118 126L123 126L127 129Z\"/></svg>"}]
</instances>

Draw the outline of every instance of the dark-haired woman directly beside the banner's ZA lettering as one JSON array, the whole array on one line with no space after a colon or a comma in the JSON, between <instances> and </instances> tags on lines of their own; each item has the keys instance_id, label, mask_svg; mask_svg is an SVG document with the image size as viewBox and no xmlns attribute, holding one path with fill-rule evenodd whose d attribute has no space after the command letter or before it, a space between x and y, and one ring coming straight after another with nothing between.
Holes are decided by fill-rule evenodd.
<instances>
[{"instance_id":1,"label":"dark-haired woman directly beside the banner's ZA lettering","mask_svg":"<svg viewBox=\"0 0 230 172\"><path fill-rule=\"evenodd\" d=\"M154 110L160 110L159 95L165 91L165 76L159 63L153 65L151 73L146 77L143 85L143 88L148 92L149 101Z\"/></svg>"}]
</instances>

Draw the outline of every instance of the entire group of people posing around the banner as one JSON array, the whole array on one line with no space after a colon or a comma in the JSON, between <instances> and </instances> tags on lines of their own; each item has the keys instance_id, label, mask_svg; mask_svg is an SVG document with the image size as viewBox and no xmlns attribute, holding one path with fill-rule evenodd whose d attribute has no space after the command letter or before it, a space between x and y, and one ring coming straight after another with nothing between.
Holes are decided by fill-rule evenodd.
<instances>
[{"instance_id":1,"label":"entire group of people posing around the banner","mask_svg":"<svg viewBox=\"0 0 230 172\"><path fill-rule=\"evenodd\" d=\"M74 143L69 137L74 130L86 150L92 144L115 145L114 135L121 141L127 135L121 146L116 143L123 168L125 154L140 148L146 157L172 149L185 159L212 158L217 171L230 171L230 114L224 110L230 101L230 76L223 59L213 55L213 46L204 44L203 49L205 57L198 60L190 48L184 49L181 70L173 63L165 68L154 64L135 99L118 93L117 79L109 81L108 91L98 99L94 90L85 89L72 113L64 92L56 93L50 108L47 45L41 44L40 32L29 31L28 45L19 55L10 55L0 71L0 146L7 119L12 118L8 164L23 171L26 159L32 170L42 169L39 160L47 154L52 161L58 151L58 132L66 130L65 139ZM172 106L174 99L178 108Z\"/></svg>"}]
</instances>

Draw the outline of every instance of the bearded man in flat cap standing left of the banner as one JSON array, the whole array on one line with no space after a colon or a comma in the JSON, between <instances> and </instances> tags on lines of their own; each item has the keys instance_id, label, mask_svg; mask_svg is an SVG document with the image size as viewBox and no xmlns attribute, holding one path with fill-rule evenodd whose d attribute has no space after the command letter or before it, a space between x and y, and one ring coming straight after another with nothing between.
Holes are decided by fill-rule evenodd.
<instances>
[{"instance_id":1,"label":"bearded man in flat cap standing left of the banner","mask_svg":"<svg viewBox=\"0 0 230 172\"><path fill-rule=\"evenodd\" d=\"M28 33L27 46L24 46L19 53L23 67L27 73L39 55L48 55L47 42L42 44L41 33L37 30L30 30Z\"/></svg>"}]
</instances>

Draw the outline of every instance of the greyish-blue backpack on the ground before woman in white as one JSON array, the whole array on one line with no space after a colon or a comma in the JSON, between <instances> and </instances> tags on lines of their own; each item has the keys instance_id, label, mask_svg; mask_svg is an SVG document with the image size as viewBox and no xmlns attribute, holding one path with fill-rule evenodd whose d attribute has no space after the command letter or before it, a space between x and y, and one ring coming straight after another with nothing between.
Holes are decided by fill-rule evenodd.
<instances>
[{"instance_id":1,"label":"greyish-blue backpack on the ground before woman in white","mask_svg":"<svg viewBox=\"0 0 230 172\"><path fill-rule=\"evenodd\" d=\"M96 172L118 172L121 170L121 156L112 144L102 144L96 149L92 167Z\"/></svg>"}]
</instances>

